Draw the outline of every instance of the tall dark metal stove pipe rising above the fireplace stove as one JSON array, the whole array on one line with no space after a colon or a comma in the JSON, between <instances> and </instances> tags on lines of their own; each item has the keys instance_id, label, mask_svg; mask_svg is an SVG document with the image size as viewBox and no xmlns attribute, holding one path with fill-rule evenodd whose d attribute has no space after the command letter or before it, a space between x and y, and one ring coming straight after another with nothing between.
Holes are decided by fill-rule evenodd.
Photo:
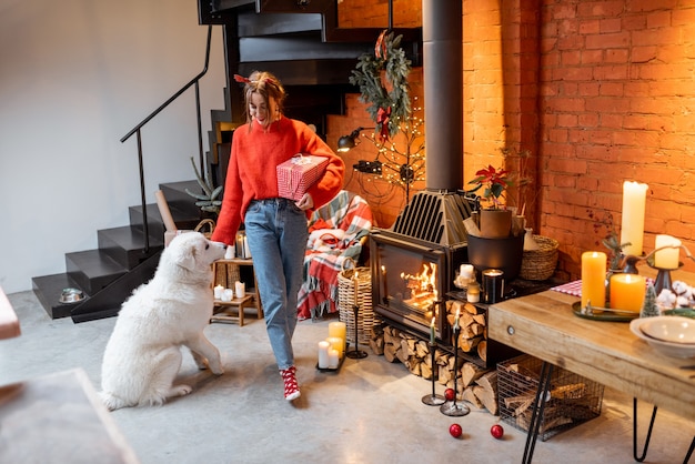
<instances>
[{"instance_id":1,"label":"tall dark metal stove pipe rising above the fireplace stove","mask_svg":"<svg viewBox=\"0 0 695 464\"><path fill-rule=\"evenodd\" d=\"M463 2L423 0L425 186L463 189Z\"/></svg>"}]
</instances>

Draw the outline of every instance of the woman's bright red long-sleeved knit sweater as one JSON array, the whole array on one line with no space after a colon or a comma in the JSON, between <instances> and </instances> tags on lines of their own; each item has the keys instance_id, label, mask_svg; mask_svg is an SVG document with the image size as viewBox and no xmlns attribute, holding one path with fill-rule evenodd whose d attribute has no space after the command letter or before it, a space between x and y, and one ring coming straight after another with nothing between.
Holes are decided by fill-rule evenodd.
<instances>
[{"instance_id":1,"label":"woman's bright red long-sleeved knit sweater","mask_svg":"<svg viewBox=\"0 0 695 464\"><path fill-rule=\"evenodd\" d=\"M244 124L236 128L232 137L222 210L212 233L216 242L234 243L252 200L279 196L275 167L298 153L329 159L323 178L308 191L314 209L331 201L343 186L343 160L306 124L289 118L273 122L268 131L255 121L250 124L251 131L249 124ZM310 215L311 211L306 213Z\"/></svg>"}]
</instances>

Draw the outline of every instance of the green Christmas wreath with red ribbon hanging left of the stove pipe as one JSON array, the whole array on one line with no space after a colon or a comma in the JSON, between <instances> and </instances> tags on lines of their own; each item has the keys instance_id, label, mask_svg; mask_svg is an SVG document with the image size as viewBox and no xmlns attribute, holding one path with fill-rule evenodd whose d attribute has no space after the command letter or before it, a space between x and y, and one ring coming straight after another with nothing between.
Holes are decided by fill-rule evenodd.
<instances>
[{"instance_id":1,"label":"green Christmas wreath with red ribbon hanging left of the stove pipe","mask_svg":"<svg viewBox=\"0 0 695 464\"><path fill-rule=\"evenodd\" d=\"M360 56L350 83L360 87L360 101L371 103L366 111L376 125L382 142L399 133L400 124L411 114L407 77L411 61L400 48L403 36L384 30L374 53Z\"/></svg>"}]
</instances>

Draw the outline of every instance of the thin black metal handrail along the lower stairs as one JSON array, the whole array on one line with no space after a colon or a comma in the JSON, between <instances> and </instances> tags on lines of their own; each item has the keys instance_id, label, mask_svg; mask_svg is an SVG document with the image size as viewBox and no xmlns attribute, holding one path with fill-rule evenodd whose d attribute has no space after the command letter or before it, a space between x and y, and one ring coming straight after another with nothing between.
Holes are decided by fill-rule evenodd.
<instances>
[{"instance_id":1,"label":"thin black metal handrail along the lower stairs","mask_svg":"<svg viewBox=\"0 0 695 464\"><path fill-rule=\"evenodd\" d=\"M142 134L141 129L150 122L155 115L158 115L164 108L169 107L174 100L177 100L183 92L189 90L192 85L195 85L195 109L197 109L197 119L198 119L198 151L199 151L199 162L200 162L200 172L203 171L203 131L202 131L202 122L201 122L201 113L200 113L200 80L205 73L208 73L208 65L210 63L210 43L212 40L212 26L208 26L208 43L205 47L205 65L203 70L191 79L185 85L183 85L178 92L171 95L164 103L162 103L157 110L152 111L145 119L143 119L140 123L138 123L133 129L130 130L123 138L121 139L121 143L125 142L133 134L138 134L138 164L140 170L140 201L142 203L142 226L144 233L144 253L150 251L150 230L148 225L148 210L145 202L145 192L144 192L144 168L142 162Z\"/></svg>"}]
</instances>

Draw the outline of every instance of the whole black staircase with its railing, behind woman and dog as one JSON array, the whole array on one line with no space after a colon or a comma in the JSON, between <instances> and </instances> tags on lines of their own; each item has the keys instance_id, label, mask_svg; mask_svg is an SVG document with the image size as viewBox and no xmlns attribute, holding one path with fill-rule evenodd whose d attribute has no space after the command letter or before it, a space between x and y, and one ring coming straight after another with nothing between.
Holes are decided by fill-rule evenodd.
<instances>
[{"instance_id":1,"label":"whole black staircase with its railing, behind woman and dog","mask_svg":"<svg viewBox=\"0 0 695 464\"><path fill-rule=\"evenodd\" d=\"M286 115L314 124L325 137L326 115L343 114L345 93L357 91L349 83L357 57L374 47L384 29L340 29L338 0L198 1L200 24L219 24L224 31L225 109L211 111L210 151L204 157L199 133L199 161L207 165L215 184L223 183L233 129L244 117L241 87L232 74L273 72L288 91ZM395 31L403 34L404 48L410 44L406 52L413 65L420 65L421 28ZM194 85L198 94L208 57L209 50L201 74L121 140L138 135L141 163L141 128L188 88ZM198 119L200 128L200 107ZM144 189L142 175L141 171ZM185 188L200 190L195 181L161 185L177 226L193 229L202 218ZM159 209L155 203L145 204L143 191L142 205L131 206L129 215L130 225L97 232L97 250L67 253L67 272L32 279L33 291L52 319L71 316L74 322L83 322L115 315L132 290L151 279L163 250L164 225ZM82 290L84 300L60 303L66 288Z\"/></svg>"}]
</instances>

